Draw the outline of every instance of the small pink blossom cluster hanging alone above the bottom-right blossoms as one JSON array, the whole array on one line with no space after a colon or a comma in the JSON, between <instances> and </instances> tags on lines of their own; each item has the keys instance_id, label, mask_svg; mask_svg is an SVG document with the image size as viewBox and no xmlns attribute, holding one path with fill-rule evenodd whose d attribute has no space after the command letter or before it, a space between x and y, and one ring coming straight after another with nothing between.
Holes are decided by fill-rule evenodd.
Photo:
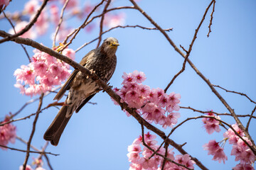
<instances>
[{"instance_id":1,"label":"small pink blossom cluster hanging alone above the bottom-right blossoms","mask_svg":"<svg viewBox=\"0 0 256 170\"><path fill-rule=\"evenodd\" d=\"M212 116L212 117L215 117L217 119L220 120L220 116L218 115L214 115L214 113L212 113L212 111L206 113L206 115L209 115L209 116ZM208 132L208 134L212 134L214 131L216 132L220 132L220 122L218 120L215 120L215 118L203 118L202 121L203 121L203 126L204 128L206 128L206 132Z\"/></svg>"}]
</instances>

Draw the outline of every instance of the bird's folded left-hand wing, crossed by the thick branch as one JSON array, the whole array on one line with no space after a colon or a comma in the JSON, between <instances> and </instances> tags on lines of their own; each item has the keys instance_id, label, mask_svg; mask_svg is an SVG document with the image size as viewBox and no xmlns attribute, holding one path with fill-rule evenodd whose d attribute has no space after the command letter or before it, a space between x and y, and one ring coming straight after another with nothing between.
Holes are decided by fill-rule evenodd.
<instances>
[{"instance_id":1,"label":"bird's folded left-hand wing, crossed by the thick branch","mask_svg":"<svg viewBox=\"0 0 256 170\"><path fill-rule=\"evenodd\" d=\"M85 64L88 60L88 58L93 55L95 52L94 50L90 51L87 53L87 55L85 55L85 57L82 58L81 62L79 64L81 64L83 67L85 67ZM76 74L78 74L78 70L74 70L73 73L70 75L70 77L68 77L68 80L65 81L65 84L63 85L63 87L60 89L60 91L58 91L58 94L56 94L55 98L53 98L53 100L60 100L60 98L63 97L63 95L65 94L65 91L67 91L68 89L70 89L70 83L73 81L73 79L75 78Z\"/></svg>"}]
</instances>

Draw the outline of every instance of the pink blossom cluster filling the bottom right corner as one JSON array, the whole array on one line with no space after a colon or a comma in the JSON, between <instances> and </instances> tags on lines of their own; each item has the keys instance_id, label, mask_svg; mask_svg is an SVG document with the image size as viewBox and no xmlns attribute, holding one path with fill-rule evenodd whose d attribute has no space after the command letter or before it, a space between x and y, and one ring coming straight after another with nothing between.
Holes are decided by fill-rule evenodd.
<instances>
[{"instance_id":1,"label":"pink blossom cluster filling the bottom right corner","mask_svg":"<svg viewBox=\"0 0 256 170\"><path fill-rule=\"evenodd\" d=\"M233 129L238 132L240 137L245 140L249 145L252 146L252 142L245 137L245 133L238 127L237 124L232 125ZM218 128L217 128L218 129ZM207 130L207 128L206 128ZM216 130L217 131L217 130ZM211 131L209 131L211 132ZM218 131L217 131L218 132ZM209 133L210 134L210 133ZM240 161L240 164L237 164L233 167L234 170L240 169L254 169L252 164L255 162L256 156L253 154L250 147L248 147L243 140L235 134L235 132L230 128L224 134L224 140L221 142L216 142L215 140L210 140L208 144L203 145L204 149L208 150L208 154L213 155L213 160L221 162L225 164L225 160L228 160L228 157L225 155L223 151L223 147L220 147L220 143L228 140L230 145L232 146L231 155L235 156L235 161Z\"/></svg>"}]
</instances>

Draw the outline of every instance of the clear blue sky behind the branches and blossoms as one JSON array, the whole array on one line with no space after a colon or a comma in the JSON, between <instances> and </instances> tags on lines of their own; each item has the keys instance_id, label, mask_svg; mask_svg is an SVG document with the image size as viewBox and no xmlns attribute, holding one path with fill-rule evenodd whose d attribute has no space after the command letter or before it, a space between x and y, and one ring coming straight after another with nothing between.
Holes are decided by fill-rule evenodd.
<instances>
[{"instance_id":1,"label":"clear blue sky behind the branches and blossoms","mask_svg":"<svg viewBox=\"0 0 256 170\"><path fill-rule=\"evenodd\" d=\"M7 11L21 9L24 3L25 1L13 0ZM159 26L174 28L168 33L170 38L177 46L183 45L188 49L194 31L209 3L210 1L200 0L142 0L138 4ZM126 5L132 6L129 1L114 2L114 6ZM243 92L254 100L256 100L256 81L255 76L253 76L256 72L255 8L256 1L252 0L217 1L213 26L211 27L213 32L207 38L210 20L210 13L208 13L190 56L191 61L213 84ZM124 12L127 14L126 24L152 27L141 13L131 9L124 10ZM79 25L76 21L73 21L72 24ZM1 20L0 28L1 30L9 30L9 23ZM52 32L53 29L50 29L47 35L38 38L37 41L51 47L52 42L49 37ZM90 34L82 31L79 38L76 38L70 47L76 49L83 43L96 38L98 33L99 30L93 30ZM159 31L120 28L105 34L103 37L110 36L117 38L120 44L117 50L117 69L110 80L112 86L121 86L123 72L133 72L137 69L146 74L147 79L144 84L153 88L164 89L182 67L183 58L174 51ZM96 45L97 43L93 43L80 50L76 54L75 60L80 62L81 58ZM33 55L31 47L27 47L27 50L30 55ZM2 59L0 67L2 79L0 85L0 118L3 120L4 115L9 112L15 113L31 98L22 96L14 87L16 82L13 76L14 71L21 64L28 64L27 57L20 45L14 42L5 42L0 45L0 51ZM218 113L228 112L188 64L186 71L171 85L168 93L171 91L181 94L181 106L191 106L202 111L213 109ZM218 91L235 109L236 113L250 114L252 112L254 105L245 97L227 94L220 89ZM47 96L43 101L43 107L51 103L53 97L54 94ZM113 105L110 96L106 93L100 92L91 101L97 102L97 105L87 104L80 113L73 115L58 147L48 146L46 151L60 154L58 157L49 156L53 169L129 169L127 147L141 134L139 123L132 117L127 118L118 106ZM31 104L17 118L35 113L37 106L37 102ZM32 145L39 149L44 145L43 133L56 113L58 113L56 108L49 108L39 115ZM179 123L187 117L200 115L184 109L181 109L180 113ZM221 118L230 124L235 123L232 118ZM241 120L245 123L247 118L241 118ZM14 123L17 126L17 135L28 140L32 123L33 118ZM249 128L254 140L256 139L255 123L255 120L252 120ZM170 130L167 128L164 131L168 133ZM225 129L221 128L221 132L208 135L203 129L201 120L191 120L179 128L171 136L171 139L178 144L187 142L184 149L193 157L197 157L208 169L231 169L238 162L235 162L235 157L230 156L232 149L230 145L225 145L225 153L228 155L228 161L225 164L211 161L212 156L208 156L202 147L209 140L223 140L223 132ZM161 142L161 139L158 138L158 140ZM19 141L16 141L15 145L9 146L26 149L26 145ZM176 151L176 154L179 153ZM31 164L32 157L37 157L37 154L31 154L28 164ZM18 166L23 164L25 154L11 150L7 152L0 150L0 158L0 169L18 169ZM197 166L195 167L198 169ZM44 168L48 169L46 162Z\"/></svg>"}]
</instances>

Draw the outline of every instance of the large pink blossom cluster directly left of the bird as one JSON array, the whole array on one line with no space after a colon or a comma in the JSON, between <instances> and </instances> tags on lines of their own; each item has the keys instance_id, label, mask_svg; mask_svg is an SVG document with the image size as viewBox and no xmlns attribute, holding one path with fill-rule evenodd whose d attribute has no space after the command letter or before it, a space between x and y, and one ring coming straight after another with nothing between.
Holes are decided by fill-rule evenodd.
<instances>
[{"instance_id":1,"label":"large pink blossom cluster directly left of the bird","mask_svg":"<svg viewBox=\"0 0 256 170\"><path fill-rule=\"evenodd\" d=\"M48 55L39 50L33 51L33 62L28 65L21 65L21 69L16 69L16 86L21 90L21 94L34 96L52 89L53 86L61 84L68 78L71 70L70 66L61 60ZM74 60L75 51L71 49L63 50L63 55Z\"/></svg>"}]
</instances>

